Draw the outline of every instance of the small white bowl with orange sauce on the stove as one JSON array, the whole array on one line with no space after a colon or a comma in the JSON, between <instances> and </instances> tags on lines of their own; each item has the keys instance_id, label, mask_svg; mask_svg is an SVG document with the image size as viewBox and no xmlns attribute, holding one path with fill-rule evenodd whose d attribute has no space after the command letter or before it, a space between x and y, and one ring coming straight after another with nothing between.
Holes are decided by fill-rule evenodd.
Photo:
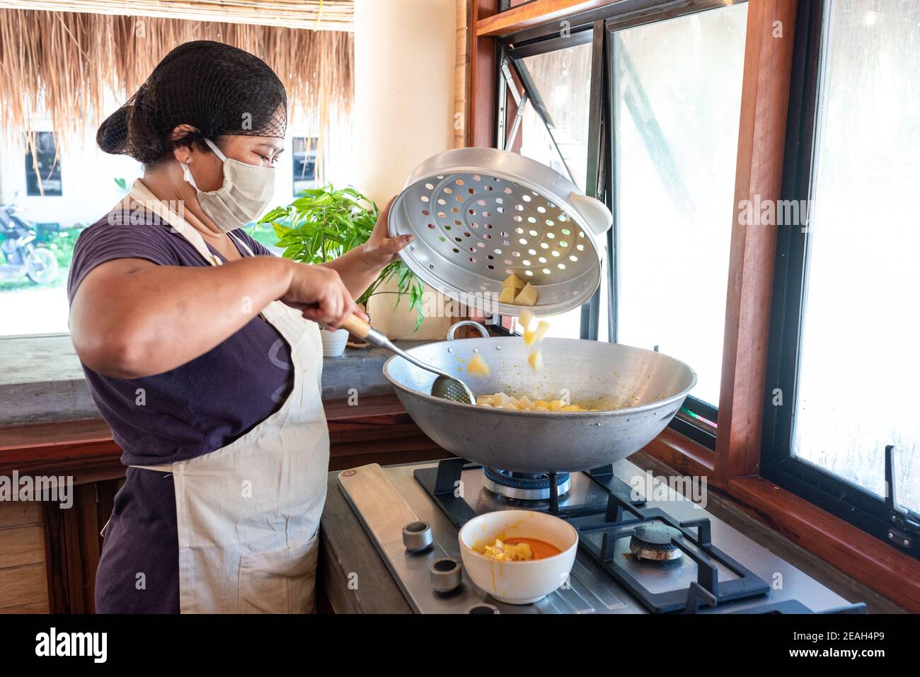
<instances>
[{"instance_id":1,"label":"small white bowl with orange sauce on the stove","mask_svg":"<svg viewBox=\"0 0 920 677\"><path fill-rule=\"evenodd\" d=\"M529 604L543 599L569 577L578 550L578 533L553 515L533 511L496 511L474 517L458 534L460 557L469 578L500 602ZM496 538L536 538L562 552L526 562L501 562L481 555Z\"/></svg>"}]
</instances>

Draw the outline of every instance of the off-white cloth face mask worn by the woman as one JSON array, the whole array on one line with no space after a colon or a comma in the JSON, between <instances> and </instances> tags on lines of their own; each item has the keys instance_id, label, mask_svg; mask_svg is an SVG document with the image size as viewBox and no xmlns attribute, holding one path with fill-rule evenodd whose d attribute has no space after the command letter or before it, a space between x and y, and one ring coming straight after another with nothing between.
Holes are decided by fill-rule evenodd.
<instances>
[{"instance_id":1,"label":"off-white cloth face mask worn by the woman","mask_svg":"<svg viewBox=\"0 0 920 677\"><path fill-rule=\"evenodd\" d=\"M214 225L224 233L255 221L274 195L274 167L247 165L221 153L211 139L205 139L204 143L211 146L211 150L224 163L223 186L216 190L200 190L195 185L189 166L184 162L179 163L182 166L182 178L198 193L201 211L211 217Z\"/></svg>"}]
</instances>

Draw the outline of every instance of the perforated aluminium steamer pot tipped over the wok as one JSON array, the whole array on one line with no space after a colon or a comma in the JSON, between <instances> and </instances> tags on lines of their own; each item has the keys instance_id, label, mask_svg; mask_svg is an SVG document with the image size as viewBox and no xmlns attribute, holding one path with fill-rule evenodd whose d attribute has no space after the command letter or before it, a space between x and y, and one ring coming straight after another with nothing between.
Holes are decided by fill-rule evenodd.
<instances>
[{"instance_id":1,"label":"perforated aluminium steamer pot tipped over the wok","mask_svg":"<svg viewBox=\"0 0 920 677\"><path fill-rule=\"evenodd\" d=\"M517 316L527 306L498 303L512 273L535 287L537 315L587 302L612 222L603 202L535 160L457 148L416 167L388 225L391 236L415 235L399 255L422 281L487 314Z\"/></svg>"}]
</instances>

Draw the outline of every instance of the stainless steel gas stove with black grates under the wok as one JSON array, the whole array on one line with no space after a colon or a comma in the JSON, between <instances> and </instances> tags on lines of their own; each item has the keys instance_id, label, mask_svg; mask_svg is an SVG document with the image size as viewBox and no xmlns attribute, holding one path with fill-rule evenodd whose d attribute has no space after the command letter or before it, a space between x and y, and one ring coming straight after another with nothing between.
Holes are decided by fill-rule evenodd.
<instances>
[{"instance_id":1,"label":"stainless steel gas stove with black grates under the wok","mask_svg":"<svg viewBox=\"0 0 920 677\"><path fill-rule=\"evenodd\" d=\"M629 484L636 478L647 488L645 473L626 460L588 473L540 476L454 458L363 465L339 473L339 487L420 614L865 611L672 488L654 485L654 499L647 499ZM459 561L460 526L512 509L550 512L575 527L579 551L569 585L524 605L498 602L465 573L458 588L435 591L431 565L446 557Z\"/></svg>"}]
</instances>

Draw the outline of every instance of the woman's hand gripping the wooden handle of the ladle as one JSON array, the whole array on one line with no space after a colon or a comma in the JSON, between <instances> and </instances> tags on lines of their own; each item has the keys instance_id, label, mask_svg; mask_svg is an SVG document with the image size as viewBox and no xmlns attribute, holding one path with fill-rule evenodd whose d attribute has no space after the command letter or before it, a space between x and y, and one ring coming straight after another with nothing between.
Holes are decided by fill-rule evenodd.
<instances>
[{"instance_id":1,"label":"woman's hand gripping the wooden handle of the ladle","mask_svg":"<svg viewBox=\"0 0 920 677\"><path fill-rule=\"evenodd\" d=\"M338 329L351 315L367 319L335 270L293 261L290 261L290 270L291 281L281 300L303 311L307 319L329 329Z\"/></svg>"}]
</instances>

